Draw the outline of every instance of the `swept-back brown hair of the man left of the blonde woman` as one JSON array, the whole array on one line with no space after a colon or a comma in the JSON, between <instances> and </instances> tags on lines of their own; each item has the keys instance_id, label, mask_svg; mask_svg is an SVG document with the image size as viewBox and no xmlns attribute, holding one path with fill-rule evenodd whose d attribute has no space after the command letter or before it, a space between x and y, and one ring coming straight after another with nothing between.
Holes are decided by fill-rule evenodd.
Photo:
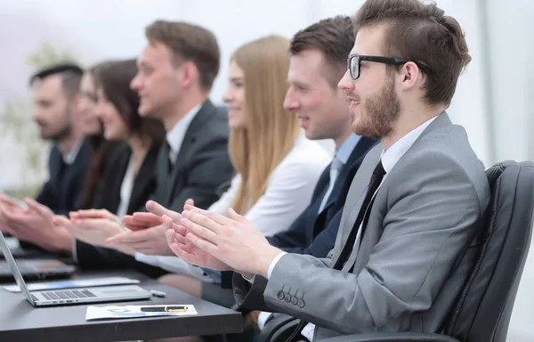
<instances>
[{"instance_id":1,"label":"swept-back brown hair of the man left of the blonde woman","mask_svg":"<svg viewBox=\"0 0 534 342\"><path fill-rule=\"evenodd\" d=\"M219 73L221 53L214 34L187 22L157 20L145 28L150 44L160 42L173 52L174 63L195 63L200 75L200 85L209 91Z\"/></svg>"}]
</instances>

